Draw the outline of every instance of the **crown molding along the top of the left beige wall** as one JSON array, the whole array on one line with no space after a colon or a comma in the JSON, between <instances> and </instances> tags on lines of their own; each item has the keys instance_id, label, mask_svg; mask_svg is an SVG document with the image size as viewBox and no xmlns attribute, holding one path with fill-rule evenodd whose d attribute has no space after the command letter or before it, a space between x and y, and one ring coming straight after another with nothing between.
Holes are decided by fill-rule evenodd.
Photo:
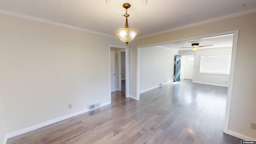
<instances>
[{"instance_id":1,"label":"crown molding along the top of the left beige wall","mask_svg":"<svg viewBox=\"0 0 256 144\"><path fill-rule=\"evenodd\" d=\"M53 25L53 26L59 26L59 27L62 27L62 28L78 30L78 31L81 31L81 32L88 32L88 33L91 33L91 34L97 34L97 35L101 35L101 36L116 38L116 36L114 36L114 35L104 34L102 32L96 32L96 31L93 31L93 30L88 30L88 29L85 29L85 28L79 28L79 27L76 27L76 26L70 26L68 24L53 22L53 21L50 21L50 20L42 19L42 18L36 18L36 17L33 17L33 16L25 15L25 14L19 14L19 13L11 12L11 11L8 11L8 10L0 9L0 14L4 14L4 15L8 15L8 16L14 16L16 18L23 18L23 19L26 19L26 20L32 20L32 21L35 21L35 22L41 22L41 23L44 23L44 24L50 24L50 25Z\"/></svg>"}]
</instances>

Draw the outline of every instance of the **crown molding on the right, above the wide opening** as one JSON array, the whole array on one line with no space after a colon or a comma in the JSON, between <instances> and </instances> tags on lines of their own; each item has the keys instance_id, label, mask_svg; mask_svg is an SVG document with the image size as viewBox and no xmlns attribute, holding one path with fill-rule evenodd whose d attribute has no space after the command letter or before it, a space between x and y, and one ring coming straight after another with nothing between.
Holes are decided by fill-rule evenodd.
<instances>
[{"instance_id":1,"label":"crown molding on the right, above the wide opening","mask_svg":"<svg viewBox=\"0 0 256 144\"><path fill-rule=\"evenodd\" d=\"M241 12L236 12L236 13L228 14L228 15L225 15L225 16L219 16L219 17L216 17L216 18L204 20L204 21L201 21L201 22L196 22L196 23L193 23L193 24L188 24L188 25L185 25L185 26L179 26L179 27L172 28L172 29L169 29L169 30L164 30L164 31L161 31L161 32L155 32L155 33L148 34L148 35L145 35L145 36L140 36L140 37L137 37L137 39L147 38L147 37L150 37L150 36L156 36L156 35L159 35L159 34L165 34L165 33L168 33L168 32L174 32L174 31L182 30L182 29L186 29L186 28L192 28L194 26L200 26L200 25L203 25L203 24L218 22L220 20L235 18L235 17L238 17L238 16L243 16L243 15L246 15L246 14L252 14L252 13L255 13L255 12L256 12L256 8L252 8L252 9L249 9L249 10L244 10L244 11L241 11Z\"/></svg>"}]
</instances>

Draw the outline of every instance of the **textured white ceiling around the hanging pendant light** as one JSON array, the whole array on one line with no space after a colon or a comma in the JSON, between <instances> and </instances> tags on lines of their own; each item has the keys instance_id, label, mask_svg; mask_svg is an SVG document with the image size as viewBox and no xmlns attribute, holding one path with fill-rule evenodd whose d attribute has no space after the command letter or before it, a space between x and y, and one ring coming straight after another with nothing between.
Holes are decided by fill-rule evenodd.
<instances>
[{"instance_id":1,"label":"textured white ceiling around the hanging pendant light","mask_svg":"<svg viewBox=\"0 0 256 144\"><path fill-rule=\"evenodd\" d=\"M124 2L131 4L128 22L140 31L137 38L256 12L256 0L0 0L0 13L116 37L125 24Z\"/></svg>"}]
</instances>

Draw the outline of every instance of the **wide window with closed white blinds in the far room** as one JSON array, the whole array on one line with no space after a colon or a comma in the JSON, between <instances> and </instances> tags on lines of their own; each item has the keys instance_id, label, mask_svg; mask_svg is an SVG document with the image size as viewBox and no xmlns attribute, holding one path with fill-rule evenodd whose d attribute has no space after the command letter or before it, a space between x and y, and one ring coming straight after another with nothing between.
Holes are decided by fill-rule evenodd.
<instances>
[{"instance_id":1,"label":"wide window with closed white blinds in the far room","mask_svg":"<svg viewBox=\"0 0 256 144\"><path fill-rule=\"evenodd\" d=\"M230 64L231 54L202 55L200 73L229 75Z\"/></svg>"}]
</instances>

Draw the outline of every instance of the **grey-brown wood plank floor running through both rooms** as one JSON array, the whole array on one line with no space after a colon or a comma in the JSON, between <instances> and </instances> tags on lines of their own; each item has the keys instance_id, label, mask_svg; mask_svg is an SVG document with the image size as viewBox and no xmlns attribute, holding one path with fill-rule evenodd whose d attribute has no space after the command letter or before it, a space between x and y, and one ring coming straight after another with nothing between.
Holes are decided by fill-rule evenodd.
<instances>
[{"instance_id":1,"label":"grey-brown wood plank floor running through both rooms","mask_svg":"<svg viewBox=\"0 0 256 144\"><path fill-rule=\"evenodd\" d=\"M117 91L110 105L9 138L7 144L240 144L222 132L226 92L191 80L144 92L138 101Z\"/></svg>"}]
</instances>

